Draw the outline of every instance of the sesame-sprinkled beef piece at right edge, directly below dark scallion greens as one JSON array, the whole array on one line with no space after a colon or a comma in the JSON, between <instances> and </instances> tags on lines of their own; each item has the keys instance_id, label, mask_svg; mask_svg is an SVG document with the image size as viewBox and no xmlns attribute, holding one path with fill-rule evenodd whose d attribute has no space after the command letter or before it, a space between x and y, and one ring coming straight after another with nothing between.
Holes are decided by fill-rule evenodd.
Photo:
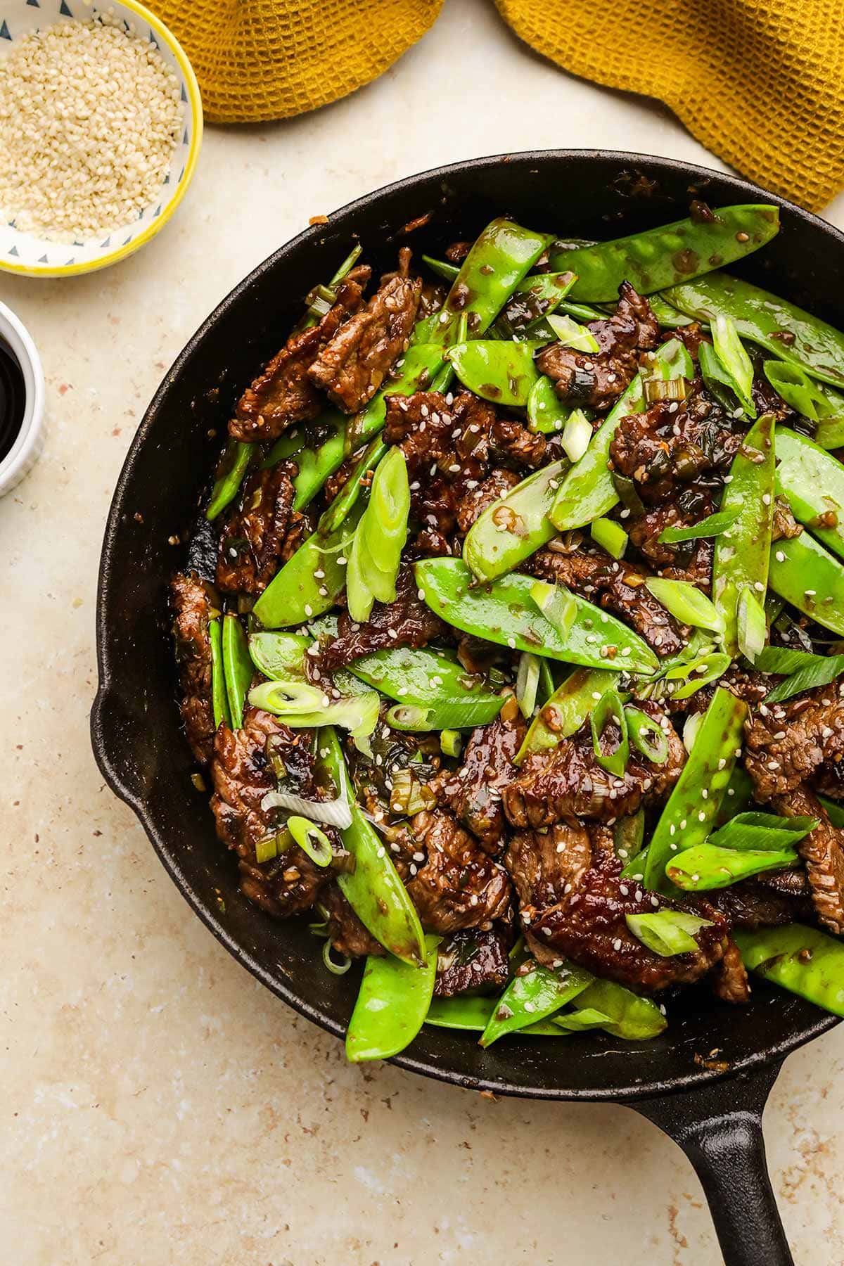
<instances>
[{"instance_id":1,"label":"sesame-sprinkled beef piece at right edge, directly below dark scallion greens","mask_svg":"<svg viewBox=\"0 0 844 1266\"><path fill-rule=\"evenodd\" d=\"M760 704L744 723L744 763L757 800L797 787L820 765L844 756L844 700L819 686L779 704Z\"/></svg>"}]
</instances>

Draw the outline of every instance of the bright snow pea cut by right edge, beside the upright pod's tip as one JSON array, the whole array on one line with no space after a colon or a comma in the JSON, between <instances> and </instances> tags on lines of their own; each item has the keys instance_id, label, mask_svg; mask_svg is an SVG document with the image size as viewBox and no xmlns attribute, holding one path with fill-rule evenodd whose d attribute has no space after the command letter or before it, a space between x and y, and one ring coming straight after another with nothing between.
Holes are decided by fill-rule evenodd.
<instances>
[{"instance_id":1,"label":"bright snow pea cut by right edge, beside the upright pod's tip","mask_svg":"<svg viewBox=\"0 0 844 1266\"><path fill-rule=\"evenodd\" d=\"M777 491L798 523L844 557L844 466L825 448L777 427Z\"/></svg>"}]
</instances>

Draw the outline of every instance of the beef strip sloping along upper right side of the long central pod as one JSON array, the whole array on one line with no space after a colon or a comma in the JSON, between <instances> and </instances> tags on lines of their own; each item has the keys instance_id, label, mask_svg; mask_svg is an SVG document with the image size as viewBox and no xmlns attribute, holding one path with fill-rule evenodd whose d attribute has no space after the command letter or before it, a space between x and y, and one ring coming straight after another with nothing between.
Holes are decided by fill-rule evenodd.
<instances>
[{"instance_id":1,"label":"beef strip sloping along upper right side of the long central pod","mask_svg":"<svg viewBox=\"0 0 844 1266\"><path fill-rule=\"evenodd\" d=\"M611 558L604 549L581 548L562 553L539 549L525 571L542 580L559 582L631 624L661 656L677 655L685 643L683 625L644 587L647 575L624 558Z\"/></svg>"}]
</instances>

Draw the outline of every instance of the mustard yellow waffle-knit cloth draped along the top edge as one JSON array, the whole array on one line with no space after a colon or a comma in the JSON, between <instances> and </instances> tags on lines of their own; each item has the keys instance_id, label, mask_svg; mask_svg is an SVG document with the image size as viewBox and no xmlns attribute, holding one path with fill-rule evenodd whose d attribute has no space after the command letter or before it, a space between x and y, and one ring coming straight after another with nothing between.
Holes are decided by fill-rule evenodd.
<instances>
[{"instance_id":1,"label":"mustard yellow waffle-knit cloth draped along the top edge","mask_svg":"<svg viewBox=\"0 0 844 1266\"><path fill-rule=\"evenodd\" d=\"M844 185L841 0L495 3L538 52L574 75L664 101L750 180L811 210ZM156 8L194 63L209 120L249 123L290 118L368 84L428 30L442 4L158 0Z\"/></svg>"}]
</instances>

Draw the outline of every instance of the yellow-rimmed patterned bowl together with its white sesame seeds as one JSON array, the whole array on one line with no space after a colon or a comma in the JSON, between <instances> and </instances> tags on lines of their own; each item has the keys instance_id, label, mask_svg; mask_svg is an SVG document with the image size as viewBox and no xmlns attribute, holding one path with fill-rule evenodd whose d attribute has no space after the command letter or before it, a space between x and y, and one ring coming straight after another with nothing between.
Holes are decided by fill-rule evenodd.
<instances>
[{"instance_id":1,"label":"yellow-rimmed patterned bowl together with its white sesame seeds","mask_svg":"<svg viewBox=\"0 0 844 1266\"><path fill-rule=\"evenodd\" d=\"M3 5L0 268L65 277L132 254L181 203L201 139L196 76L143 5Z\"/></svg>"}]
</instances>

